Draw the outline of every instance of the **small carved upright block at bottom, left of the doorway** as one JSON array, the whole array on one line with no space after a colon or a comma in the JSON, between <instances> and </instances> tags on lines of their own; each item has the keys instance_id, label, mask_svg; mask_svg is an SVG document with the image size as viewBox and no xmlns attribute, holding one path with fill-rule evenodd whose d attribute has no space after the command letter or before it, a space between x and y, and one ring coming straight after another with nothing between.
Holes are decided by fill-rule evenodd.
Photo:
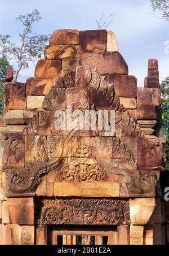
<instances>
[{"instance_id":1,"label":"small carved upright block at bottom, left of the doorway","mask_svg":"<svg viewBox=\"0 0 169 256\"><path fill-rule=\"evenodd\" d=\"M34 226L23 225L21 226L21 245L34 244Z\"/></svg>"}]
</instances>

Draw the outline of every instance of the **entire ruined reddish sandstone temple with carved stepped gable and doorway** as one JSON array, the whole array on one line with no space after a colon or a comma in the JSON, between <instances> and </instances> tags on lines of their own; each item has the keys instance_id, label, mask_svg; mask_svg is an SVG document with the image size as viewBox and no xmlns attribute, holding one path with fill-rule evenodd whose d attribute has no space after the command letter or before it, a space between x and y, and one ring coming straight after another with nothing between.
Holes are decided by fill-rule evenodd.
<instances>
[{"instance_id":1,"label":"entire ruined reddish sandstone temple with carved stepped gable and doorway","mask_svg":"<svg viewBox=\"0 0 169 256\"><path fill-rule=\"evenodd\" d=\"M6 71L0 244L166 244L157 60L143 88L111 31L56 30L44 54L26 83Z\"/></svg>"}]
</instances>

